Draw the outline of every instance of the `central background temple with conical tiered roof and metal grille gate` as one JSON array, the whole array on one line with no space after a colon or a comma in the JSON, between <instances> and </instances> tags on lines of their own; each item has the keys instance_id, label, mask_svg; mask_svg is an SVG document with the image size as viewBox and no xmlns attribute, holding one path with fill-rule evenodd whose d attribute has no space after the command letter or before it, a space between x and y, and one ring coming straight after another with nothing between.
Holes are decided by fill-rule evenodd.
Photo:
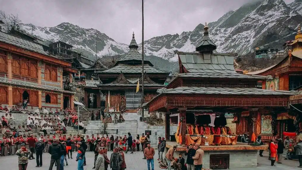
<instances>
[{"instance_id":1,"label":"central background temple with conical tiered roof and metal grille gate","mask_svg":"<svg viewBox=\"0 0 302 170\"><path fill-rule=\"evenodd\" d=\"M85 103L88 103L89 93L102 93L105 95L105 112L109 112L108 108L119 112L137 112L142 95L143 102L148 102L157 95L157 89L165 87L164 83L169 72L155 69L153 64L146 59L144 59L142 79L142 54L137 49L138 45L133 33L128 53L119 59L113 68L96 71L100 79L96 87L85 87ZM141 85L142 81L144 94L141 91L136 92L137 83Z\"/></svg>"}]
</instances>

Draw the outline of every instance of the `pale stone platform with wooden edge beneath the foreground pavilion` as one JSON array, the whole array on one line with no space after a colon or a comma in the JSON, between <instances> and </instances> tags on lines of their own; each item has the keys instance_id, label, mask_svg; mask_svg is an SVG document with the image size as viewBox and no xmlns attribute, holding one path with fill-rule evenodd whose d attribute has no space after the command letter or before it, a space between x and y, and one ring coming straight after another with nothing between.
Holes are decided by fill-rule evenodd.
<instances>
[{"instance_id":1,"label":"pale stone platform with wooden edge beneath the foreground pavilion","mask_svg":"<svg viewBox=\"0 0 302 170\"><path fill-rule=\"evenodd\" d=\"M178 157L178 153L183 153L182 156L187 159L185 152L187 147L179 146L176 142L166 142L165 153L173 145L178 145L176 151L174 152L174 157ZM218 155L227 156L229 161L228 168L249 168L257 167L257 155L258 150L266 150L267 146L251 146L251 145L220 145L220 146L201 146L204 151L203 156L203 168L210 168L210 157L215 157Z\"/></svg>"}]
</instances>

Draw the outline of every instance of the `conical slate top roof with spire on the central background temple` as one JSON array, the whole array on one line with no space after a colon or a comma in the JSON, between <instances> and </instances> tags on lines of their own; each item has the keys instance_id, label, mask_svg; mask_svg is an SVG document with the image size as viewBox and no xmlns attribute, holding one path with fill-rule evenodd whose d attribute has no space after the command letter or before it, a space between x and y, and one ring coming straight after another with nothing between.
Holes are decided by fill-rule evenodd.
<instances>
[{"instance_id":1,"label":"conical slate top roof with spire on the central background temple","mask_svg":"<svg viewBox=\"0 0 302 170\"><path fill-rule=\"evenodd\" d=\"M130 49L128 53L123 58L117 60L114 66L117 66L118 64L121 63L131 64L131 65L137 65L142 63L142 54L140 54L140 52L138 52L137 50L138 45L134 38L134 32L132 34L132 40L130 42L129 48ZM144 58L144 64L148 64L149 66L153 67L153 64L146 58Z\"/></svg>"}]
</instances>

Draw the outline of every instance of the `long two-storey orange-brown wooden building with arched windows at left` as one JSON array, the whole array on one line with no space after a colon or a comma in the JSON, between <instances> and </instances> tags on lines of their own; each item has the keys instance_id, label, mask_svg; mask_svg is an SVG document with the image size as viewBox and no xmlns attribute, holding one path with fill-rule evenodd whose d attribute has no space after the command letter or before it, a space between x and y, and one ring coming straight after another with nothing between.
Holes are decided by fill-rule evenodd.
<instances>
[{"instance_id":1,"label":"long two-storey orange-brown wooden building with arched windows at left","mask_svg":"<svg viewBox=\"0 0 302 170\"><path fill-rule=\"evenodd\" d=\"M72 63L51 56L39 42L0 31L0 104L73 108L74 92L65 90L63 76L78 73Z\"/></svg>"}]
</instances>

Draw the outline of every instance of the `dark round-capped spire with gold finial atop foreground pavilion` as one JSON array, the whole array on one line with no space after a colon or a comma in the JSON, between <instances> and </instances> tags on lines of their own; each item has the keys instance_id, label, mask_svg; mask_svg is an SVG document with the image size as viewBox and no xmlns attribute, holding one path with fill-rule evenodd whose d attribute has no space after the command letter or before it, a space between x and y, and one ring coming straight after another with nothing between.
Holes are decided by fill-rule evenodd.
<instances>
[{"instance_id":1,"label":"dark round-capped spire with gold finial atop foreground pavilion","mask_svg":"<svg viewBox=\"0 0 302 170\"><path fill-rule=\"evenodd\" d=\"M216 50L217 47L210 39L208 29L209 27L207 26L207 22L206 22L204 25L204 37L202 38L201 42L197 45L196 51L199 51L201 53L203 52L213 53L213 51Z\"/></svg>"}]
</instances>

